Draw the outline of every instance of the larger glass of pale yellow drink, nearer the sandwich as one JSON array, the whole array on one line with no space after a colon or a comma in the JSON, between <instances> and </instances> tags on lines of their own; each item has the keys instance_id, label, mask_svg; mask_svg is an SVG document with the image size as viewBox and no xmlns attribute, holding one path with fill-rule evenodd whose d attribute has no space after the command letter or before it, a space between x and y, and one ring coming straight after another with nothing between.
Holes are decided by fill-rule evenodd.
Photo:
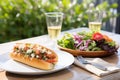
<instances>
[{"instance_id":1,"label":"larger glass of pale yellow drink, nearer the sandwich","mask_svg":"<svg viewBox=\"0 0 120 80\"><path fill-rule=\"evenodd\" d=\"M45 13L48 35L51 39L57 39L61 33L63 13L62 12L48 12Z\"/></svg>"}]
</instances>

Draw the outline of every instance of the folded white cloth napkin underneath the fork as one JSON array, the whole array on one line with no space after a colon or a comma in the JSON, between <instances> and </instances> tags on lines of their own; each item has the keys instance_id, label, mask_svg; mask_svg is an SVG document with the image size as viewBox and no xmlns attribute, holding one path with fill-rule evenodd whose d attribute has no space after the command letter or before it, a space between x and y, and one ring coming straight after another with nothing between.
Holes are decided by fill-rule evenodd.
<instances>
[{"instance_id":1,"label":"folded white cloth napkin underneath the fork","mask_svg":"<svg viewBox=\"0 0 120 80\"><path fill-rule=\"evenodd\" d=\"M82 64L76 58L75 58L74 64L96 74L97 76L105 76L105 75L120 71L119 67L113 64L110 64L102 60L101 58L94 58L91 60L91 62L98 63L98 64L105 66L107 68L107 71L100 70L96 68L95 66L92 66L91 64Z\"/></svg>"}]
</instances>

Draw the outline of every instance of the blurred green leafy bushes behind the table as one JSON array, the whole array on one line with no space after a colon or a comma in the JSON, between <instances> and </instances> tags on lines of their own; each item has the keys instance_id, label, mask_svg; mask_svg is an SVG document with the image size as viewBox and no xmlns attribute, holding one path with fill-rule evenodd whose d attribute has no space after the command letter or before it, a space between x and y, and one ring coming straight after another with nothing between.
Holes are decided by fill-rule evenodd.
<instances>
[{"instance_id":1,"label":"blurred green leafy bushes behind the table","mask_svg":"<svg viewBox=\"0 0 120 80\"><path fill-rule=\"evenodd\" d=\"M62 30L86 27L91 1L74 4L71 0L0 0L0 43L47 34L45 12L64 13ZM104 1L97 7L105 11L103 22L117 16L110 12L117 3Z\"/></svg>"}]
</instances>

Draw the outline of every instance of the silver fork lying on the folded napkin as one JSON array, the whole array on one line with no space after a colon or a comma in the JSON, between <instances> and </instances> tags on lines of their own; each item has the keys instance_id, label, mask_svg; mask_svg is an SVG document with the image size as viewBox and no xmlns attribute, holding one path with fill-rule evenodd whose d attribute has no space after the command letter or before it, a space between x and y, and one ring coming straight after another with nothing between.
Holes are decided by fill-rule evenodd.
<instances>
[{"instance_id":1,"label":"silver fork lying on the folded napkin","mask_svg":"<svg viewBox=\"0 0 120 80\"><path fill-rule=\"evenodd\" d=\"M78 61L82 62L82 64L90 64L90 65L93 65L94 67L96 67L100 70L107 71L107 68L105 66L100 65L98 63L89 62L89 61L85 60L82 56L77 56L76 58Z\"/></svg>"}]
</instances>

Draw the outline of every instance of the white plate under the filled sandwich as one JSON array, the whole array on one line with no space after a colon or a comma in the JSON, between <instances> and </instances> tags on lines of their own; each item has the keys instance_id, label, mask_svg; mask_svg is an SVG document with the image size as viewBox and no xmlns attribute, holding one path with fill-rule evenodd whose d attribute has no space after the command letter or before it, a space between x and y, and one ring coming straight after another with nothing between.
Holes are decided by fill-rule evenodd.
<instances>
[{"instance_id":1,"label":"white plate under the filled sandwich","mask_svg":"<svg viewBox=\"0 0 120 80\"><path fill-rule=\"evenodd\" d=\"M0 55L0 65L4 70L8 72L25 75L40 75L53 73L65 69L74 62L74 57L71 54L60 50L56 50L55 52L58 55L58 63L55 65L54 69L48 71L36 69L25 64L16 62L10 59L9 53Z\"/></svg>"}]
</instances>

